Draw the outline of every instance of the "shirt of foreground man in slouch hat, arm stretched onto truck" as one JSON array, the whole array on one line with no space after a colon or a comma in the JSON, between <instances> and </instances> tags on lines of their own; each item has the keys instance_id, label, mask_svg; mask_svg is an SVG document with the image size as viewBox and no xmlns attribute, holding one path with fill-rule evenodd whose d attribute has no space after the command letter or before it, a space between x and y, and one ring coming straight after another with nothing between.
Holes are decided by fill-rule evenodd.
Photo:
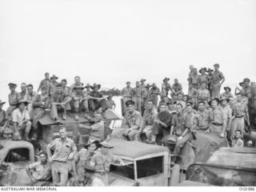
<instances>
[{"instance_id":1,"label":"shirt of foreground man in slouch hat, arm stretched onto truck","mask_svg":"<svg viewBox=\"0 0 256 192\"><path fill-rule=\"evenodd\" d=\"M95 171L102 173L108 173L110 171L111 163L121 163L121 159L111 153L108 153L107 155L98 153L90 160L90 165L95 167Z\"/></svg>"}]
</instances>

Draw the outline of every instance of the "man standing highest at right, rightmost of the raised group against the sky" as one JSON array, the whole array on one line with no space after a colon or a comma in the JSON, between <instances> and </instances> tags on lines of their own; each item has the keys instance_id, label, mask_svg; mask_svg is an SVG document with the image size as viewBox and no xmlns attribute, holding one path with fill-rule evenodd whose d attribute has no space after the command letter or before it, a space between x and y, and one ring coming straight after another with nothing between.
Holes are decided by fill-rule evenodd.
<instances>
[{"instance_id":1,"label":"man standing highest at right, rightmost of the raised group against the sky","mask_svg":"<svg viewBox=\"0 0 256 192\"><path fill-rule=\"evenodd\" d=\"M214 72L211 76L211 84L210 84L210 87L212 89L212 96L211 96L212 98L220 97L220 90L224 81L225 81L225 77L223 76L223 73L219 71L219 65L214 64Z\"/></svg>"}]
</instances>

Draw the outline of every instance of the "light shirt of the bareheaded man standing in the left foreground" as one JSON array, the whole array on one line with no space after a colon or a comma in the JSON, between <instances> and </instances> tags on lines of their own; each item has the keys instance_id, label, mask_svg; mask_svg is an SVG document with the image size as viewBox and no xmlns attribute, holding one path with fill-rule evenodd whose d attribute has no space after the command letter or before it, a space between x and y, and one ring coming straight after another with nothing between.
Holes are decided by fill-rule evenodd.
<instances>
[{"instance_id":1,"label":"light shirt of the bareheaded man standing in the left foreground","mask_svg":"<svg viewBox=\"0 0 256 192\"><path fill-rule=\"evenodd\" d=\"M77 147L74 144L74 140L66 138L66 141L62 142L62 139L54 139L48 144L51 150L54 150L52 156L53 161L66 162L68 156L77 151Z\"/></svg>"}]
</instances>

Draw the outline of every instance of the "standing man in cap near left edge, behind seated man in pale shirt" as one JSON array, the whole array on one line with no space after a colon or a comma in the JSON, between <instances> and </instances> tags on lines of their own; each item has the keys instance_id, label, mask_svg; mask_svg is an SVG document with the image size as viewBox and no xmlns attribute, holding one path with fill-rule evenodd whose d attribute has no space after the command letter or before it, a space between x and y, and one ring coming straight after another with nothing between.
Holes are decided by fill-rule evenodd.
<instances>
[{"instance_id":1,"label":"standing man in cap near left edge, behind seated man in pale shirt","mask_svg":"<svg viewBox=\"0 0 256 192\"><path fill-rule=\"evenodd\" d=\"M7 119L10 118L11 113L14 112L14 109L17 108L18 104L18 92L15 91L17 84L10 83L8 84L10 88L10 94L8 95L9 99L9 108L6 110Z\"/></svg>"}]
</instances>

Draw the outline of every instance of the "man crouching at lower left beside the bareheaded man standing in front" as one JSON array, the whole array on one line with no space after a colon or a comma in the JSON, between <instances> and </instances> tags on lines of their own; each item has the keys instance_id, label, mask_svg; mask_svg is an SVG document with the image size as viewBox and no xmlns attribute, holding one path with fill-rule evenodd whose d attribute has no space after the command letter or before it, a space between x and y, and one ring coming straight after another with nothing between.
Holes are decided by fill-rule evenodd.
<instances>
[{"instance_id":1,"label":"man crouching at lower left beside the bareheaded man standing in front","mask_svg":"<svg viewBox=\"0 0 256 192\"><path fill-rule=\"evenodd\" d=\"M45 152L41 152L39 157L40 161L26 167L26 173L31 179L31 186L49 186L51 178L50 163L47 161Z\"/></svg>"}]
</instances>

